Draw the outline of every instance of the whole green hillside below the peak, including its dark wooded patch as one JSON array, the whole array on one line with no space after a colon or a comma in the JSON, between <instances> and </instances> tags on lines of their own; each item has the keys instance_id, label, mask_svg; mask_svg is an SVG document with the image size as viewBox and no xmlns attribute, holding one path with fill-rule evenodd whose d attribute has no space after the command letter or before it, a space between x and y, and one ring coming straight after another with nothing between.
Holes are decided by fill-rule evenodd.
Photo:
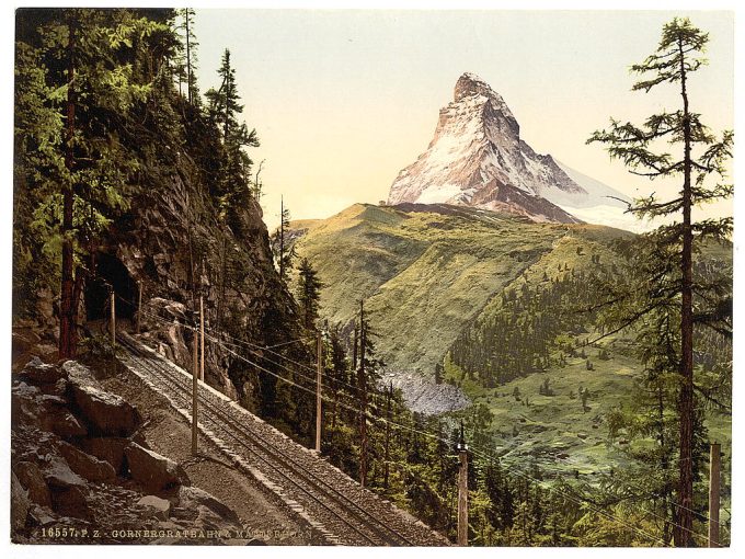
<instances>
[{"instance_id":1,"label":"whole green hillside below the peak, including its dark wooded patch","mask_svg":"<svg viewBox=\"0 0 745 559\"><path fill-rule=\"evenodd\" d=\"M483 404L484 441L503 463L592 480L627 465L629 445L651 444L609 438L608 412L632 408L639 393L633 333L584 345L601 331L580 310L597 303L587 278L617 273L611 242L631 233L362 204L302 229L298 254L325 284L321 315L348 327L364 298L388 368L428 376L443 364L443 380L474 404L456 417ZM729 247L704 252L731 262ZM729 448L731 419L708 410L704 422Z\"/></svg>"}]
</instances>

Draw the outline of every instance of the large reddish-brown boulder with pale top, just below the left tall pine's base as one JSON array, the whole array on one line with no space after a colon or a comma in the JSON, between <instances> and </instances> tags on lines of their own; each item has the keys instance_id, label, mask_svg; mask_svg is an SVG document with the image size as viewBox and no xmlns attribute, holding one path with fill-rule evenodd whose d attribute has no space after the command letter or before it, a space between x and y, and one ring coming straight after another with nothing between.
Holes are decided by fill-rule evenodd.
<instances>
[{"instance_id":1,"label":"large reddish-brown boulder with pale top, just below the left tall pine's base","mask_svg":"<svg viewBox=\"0 0 745 559\"><path fill-rule=\"evenodd\" d=\"M139 426L139 412L125 399L78 383L71 388L76 404L98 434L129 436Z\"/></svg>"}]
</instances>

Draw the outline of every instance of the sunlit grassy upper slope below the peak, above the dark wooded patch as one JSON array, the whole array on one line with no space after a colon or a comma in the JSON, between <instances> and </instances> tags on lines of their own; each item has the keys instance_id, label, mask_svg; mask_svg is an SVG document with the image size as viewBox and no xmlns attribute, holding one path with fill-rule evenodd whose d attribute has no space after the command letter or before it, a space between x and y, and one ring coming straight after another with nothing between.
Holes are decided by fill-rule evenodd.
<instances>
[{"instance_id":1,"label":"sunlit grassy upper slope below the peak, above the dark wooded patch","mask_svg":"<svg viewBox=\"0 0 745 559\"><path fill-rule=\"evenodd\" d=\"M539 262L573 267L575 260L589 259L589 250L577 255L577 246L603 246L624 235L470 208L427 208L356 204L303 223L296 246L325 284L322 315L348 324L365 299L389 367L425 375L524 272L531 275Z\"/></svg>"}]
</instances>

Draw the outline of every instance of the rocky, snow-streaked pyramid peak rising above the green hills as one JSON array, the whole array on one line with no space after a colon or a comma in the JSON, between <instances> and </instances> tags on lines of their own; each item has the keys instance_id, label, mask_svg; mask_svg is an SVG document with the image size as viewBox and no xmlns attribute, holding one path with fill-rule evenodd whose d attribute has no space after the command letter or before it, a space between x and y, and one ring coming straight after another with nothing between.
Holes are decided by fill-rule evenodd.
<instances>
[{"instance_id":1,"label":"rocky, snow-streaked pyramid peak rising above the green hills","mask_svg":"<svg viewBox=\"0 0 745 559\"><path fill-rule=\"evenodd\" d=\"M478 76L463 73L454 101L439 112L434 139L393 181L388 204L446 203L581 223L560 205L623 206L609 195L624 197L597 181L577 181L550 155L536 153L504 99Z\"/></svg>"}]
</instances>

